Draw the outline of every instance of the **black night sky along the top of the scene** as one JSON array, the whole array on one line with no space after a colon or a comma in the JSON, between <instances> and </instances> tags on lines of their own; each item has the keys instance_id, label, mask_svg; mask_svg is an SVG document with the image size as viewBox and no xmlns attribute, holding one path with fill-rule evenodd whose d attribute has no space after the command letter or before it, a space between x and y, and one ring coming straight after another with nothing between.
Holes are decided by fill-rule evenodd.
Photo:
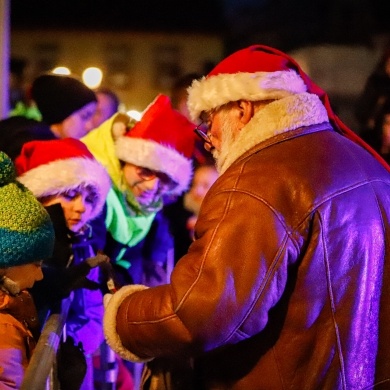
<instances>
[{"instance_id":1,"label":"black night sky along the top of the scene","mask_svg":"<svg viewBox=\"0 0 390 390\"><path fill-rule=\"evenodd\" d=\"M390 35L390 0L12 0L12 28L217 33L291 50Z\"/></svg>"}]
</instances>

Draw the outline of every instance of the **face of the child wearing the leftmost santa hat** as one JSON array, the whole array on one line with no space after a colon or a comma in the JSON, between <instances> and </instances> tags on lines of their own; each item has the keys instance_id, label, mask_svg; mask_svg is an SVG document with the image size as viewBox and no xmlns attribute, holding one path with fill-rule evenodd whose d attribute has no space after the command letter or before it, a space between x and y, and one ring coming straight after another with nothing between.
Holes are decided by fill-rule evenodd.
<instances>
[{"instance_id":1,"label":"face of the child wearing the leftmost santa hat","mask_svg":"<svg viewBox=\"0 0 390 390\"><path fill-rule=\"evenodd\" d=\"M44 206L60 203L68 229L78 232L90 219L96 202L95 194L88 188L78 188L51 196L42 202Z\"/></svg>"}]
</instances>

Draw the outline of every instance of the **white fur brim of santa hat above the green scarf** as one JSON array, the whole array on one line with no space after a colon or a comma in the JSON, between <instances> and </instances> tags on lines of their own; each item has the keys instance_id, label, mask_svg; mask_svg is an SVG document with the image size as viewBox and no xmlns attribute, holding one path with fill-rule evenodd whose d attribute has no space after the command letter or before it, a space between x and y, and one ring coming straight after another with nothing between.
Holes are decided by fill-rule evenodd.
<instances>
[{"instance_id":1,"label":"white fur brim of santa hat above the green scarf","mask_svg":"<svg viewBox=\"0 0 390 390\"><path fill-rule=\"evenodd\" d=\"M172 194L186 191L192 178L192 162L169 146L135 137L119 137L117 157L125 162L166 173L178 186Z\"/></svg>"}]
</instances>

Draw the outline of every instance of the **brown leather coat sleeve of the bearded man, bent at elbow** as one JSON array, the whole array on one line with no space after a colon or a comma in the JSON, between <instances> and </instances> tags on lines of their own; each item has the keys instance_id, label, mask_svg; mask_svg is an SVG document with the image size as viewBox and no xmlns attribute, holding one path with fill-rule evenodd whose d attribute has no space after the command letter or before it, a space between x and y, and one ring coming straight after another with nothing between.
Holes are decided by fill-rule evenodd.
<instances>
[{"instance_id":1,"label":"brown leather coat sleeve of the bearded man, bent at elbow","mask_svg":"<svg viewBox=\"0 0 390 390\"><path fill-rule=\"evenodd\" d=\"M195 234L170 284L121 298L111 330L139 358L195 355L257 334L284 291L295 247L265 202L213 187Z\"/></svg>"}]
</instances>

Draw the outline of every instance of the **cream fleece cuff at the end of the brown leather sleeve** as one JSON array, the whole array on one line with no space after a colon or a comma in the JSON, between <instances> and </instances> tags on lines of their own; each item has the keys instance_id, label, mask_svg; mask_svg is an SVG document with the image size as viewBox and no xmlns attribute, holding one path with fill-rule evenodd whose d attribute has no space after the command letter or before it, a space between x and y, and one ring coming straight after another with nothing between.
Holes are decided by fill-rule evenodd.
<instances>
[{"instance_id":1,"label":"cream fleece cuff at the end of the brown leather sleeve","mask_svg":"<svg viewBox=\"0 0 390 390\"><path fill-rule=\"evenodd\" d=\"M111 297L108 304L105 306L104 311L103 330L107 344L123 359L130 360L134 363L148 362L153 360L153 358L142 359L123 346L122 341L116 331L116 316L119 306L129 295L147 288L148 287L140 284L133 284L122 287Z\"/></svg>"}]
</instances>

